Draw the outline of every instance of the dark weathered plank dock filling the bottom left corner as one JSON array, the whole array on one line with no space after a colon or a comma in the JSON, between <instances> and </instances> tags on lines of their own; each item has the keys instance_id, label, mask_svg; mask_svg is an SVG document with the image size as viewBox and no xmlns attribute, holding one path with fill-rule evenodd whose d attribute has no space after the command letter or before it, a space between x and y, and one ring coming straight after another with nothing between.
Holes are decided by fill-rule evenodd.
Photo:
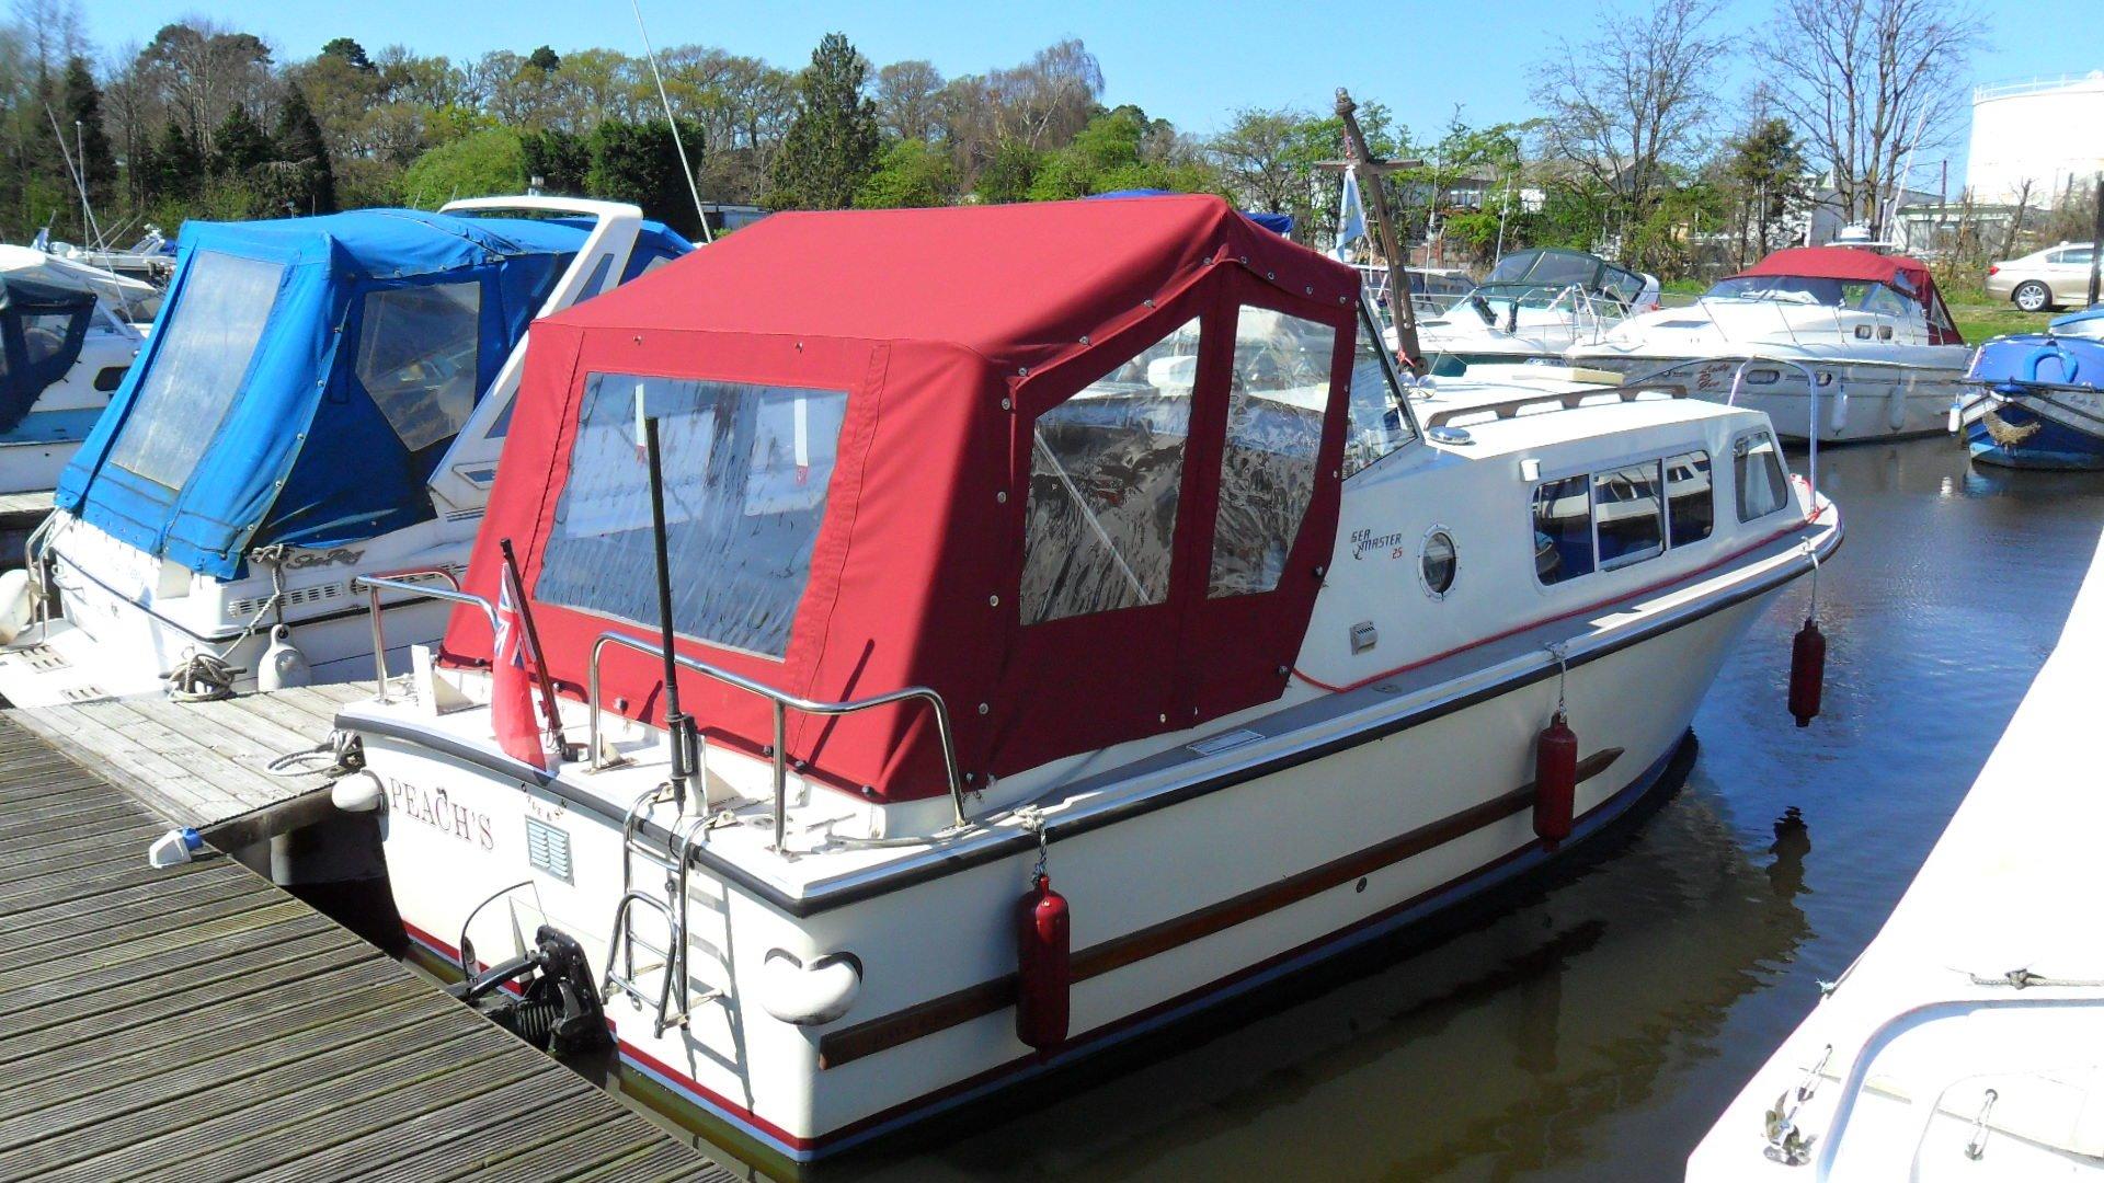
<instances>
[{"instance_id":1,"label":"dark weathered plank dock filling the bottom left corner","mask_svg":"<svg viewBox=\"0 0 2104 1183\"><path fill-rule=\"evenodd\" d=\"M231 859L147 869L168 819L15 716L0 1181L734 1179Z\"/></svg>"}]
</instances>

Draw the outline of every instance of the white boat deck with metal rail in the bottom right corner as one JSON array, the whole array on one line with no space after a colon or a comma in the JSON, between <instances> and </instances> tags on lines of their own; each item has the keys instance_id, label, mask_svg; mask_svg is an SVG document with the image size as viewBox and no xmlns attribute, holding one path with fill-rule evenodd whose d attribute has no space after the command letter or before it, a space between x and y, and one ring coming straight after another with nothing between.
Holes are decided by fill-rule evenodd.
<instances>
[{"instance_id":1,"label":"white boat deck with metal rail in the bottom right corner","mask_svg":"<svg viewBox=\"0 0 2104 1183\"><path fill-rule=\"evenodd\" d=\"M1692 1183L2104 1177L2100 653L2104 549L1891 918L1708 1130Z\"/></svg>"}]
</instances>

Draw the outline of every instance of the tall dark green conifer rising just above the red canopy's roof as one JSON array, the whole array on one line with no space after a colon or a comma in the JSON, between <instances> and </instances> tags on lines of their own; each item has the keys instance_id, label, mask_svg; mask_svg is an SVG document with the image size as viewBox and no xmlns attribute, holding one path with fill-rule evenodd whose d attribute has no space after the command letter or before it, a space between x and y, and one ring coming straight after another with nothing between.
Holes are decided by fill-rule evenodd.
<instances>
[{"instance_id":1,"label":"tall dark green conifer rising just above the red canopy's roof","mask_svg":"<svg viewBox=\"0 0 2104 1183\"><path fill-rule=\"evenodd\" d=\"M795 118L774 158L774 208L837 210L877 166L877 107L863 97L863 55L842 34L825 34L797 78Z\"/></svg>"}]
</instances>

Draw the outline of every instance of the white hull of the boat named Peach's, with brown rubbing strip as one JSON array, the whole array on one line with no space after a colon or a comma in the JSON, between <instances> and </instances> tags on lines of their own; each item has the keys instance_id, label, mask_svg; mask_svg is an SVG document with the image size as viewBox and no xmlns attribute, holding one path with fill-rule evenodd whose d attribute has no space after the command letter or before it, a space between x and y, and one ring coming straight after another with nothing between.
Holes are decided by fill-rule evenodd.
<instances>
[{"instance_id":1,"label":"white hull of the boat named Peach's, with brown rubbing strip","mask_svg":"<svg viewBox=\"0 0 2104 1183\"><path fill-rule=\"evenodd\" d=\"M1565 850L1658 785L1719 663L1772 596L1572 667L1584 779ZM696 871L690 989L724 998L696 1004L688 1029L663 1036L650 1010L612 1002L623 1061L766 1149L814 1158L1273 981L1551 857L1532 829L1530 783L1555 678L1460 699L1460 709L1380 701L1378 686L1365 699L1309 728L1298 747L1252 745L1248 779L1134 798L1142 804L1132 815L1050 848L1052 884L1073 907L1077 966L1071 1038L1056 1057L1018 1042L1004 985L1035 861L1031 846L1014 846L802 918L747 884ZM583 789L528 787L444 756L414 733L389 739L381 724L353 726L387 787L389 878L414 939L454 956L471 909L528 867L534 819L568 834L570 878L534 871L530 888L482 909L467 930L473 956L505 960L547 922L606 970L610 901L623 890L614 813L579 808ZM854 1008L823 1029L772 1019L755 1004L770 949L800 960L854 954Z\"/></svg>"}]
</instances>

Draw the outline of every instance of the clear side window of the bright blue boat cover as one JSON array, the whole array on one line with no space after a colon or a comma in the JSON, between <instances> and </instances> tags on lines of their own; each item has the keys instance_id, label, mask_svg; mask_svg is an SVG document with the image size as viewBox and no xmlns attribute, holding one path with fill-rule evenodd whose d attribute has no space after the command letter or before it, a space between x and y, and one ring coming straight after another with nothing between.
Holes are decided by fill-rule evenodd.
<instances>
[{"instance_id":1,"label":"clear side window of the bright blue boat cover","mask_svg":"<svg viewBox=\"0 0 2104 1183\"><path fill-rule=\"evenodd\" d=\"M360 320L358 385L402 446L421 453L459 436L482 387L482 282L366 293Z\"/></svg>"}]
</instances>

